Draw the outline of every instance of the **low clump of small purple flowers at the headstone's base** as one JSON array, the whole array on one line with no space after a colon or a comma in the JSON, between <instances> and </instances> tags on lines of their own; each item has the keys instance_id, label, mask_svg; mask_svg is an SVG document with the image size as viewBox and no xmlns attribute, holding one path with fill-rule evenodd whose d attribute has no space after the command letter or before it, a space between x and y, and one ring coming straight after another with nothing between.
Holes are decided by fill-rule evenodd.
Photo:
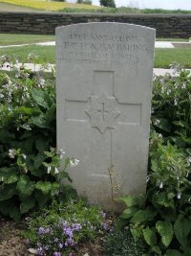
<instances>
[{"instance_id":1,"label":"low clump of small purple flowers at the headstone's base","mask_svg":"<svg viewBox=\"0 0 191 256\"><path fill-rule=\"evenodd\" d=\"M54 199L50 207L27 218L27 226L24 237L37 255L73 255L77 244L104 231L105 214L99 207L87 207L83 198L65 203Z\"/></svg>"}]
</instances>

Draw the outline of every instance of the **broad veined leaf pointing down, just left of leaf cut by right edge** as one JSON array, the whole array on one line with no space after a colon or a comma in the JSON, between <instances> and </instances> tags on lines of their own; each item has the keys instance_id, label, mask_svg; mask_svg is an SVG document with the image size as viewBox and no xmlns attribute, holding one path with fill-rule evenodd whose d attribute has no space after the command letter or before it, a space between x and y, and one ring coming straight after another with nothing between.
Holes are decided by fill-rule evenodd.
<instances>
[{"instance_id":1,"label":"broad veined leaf pointing down, just left of leaf cut by right edge","mask_svg":"<svg viewBox=\"0 0 191 256\"><path fill-rule=\"evenodd\" d=\"M158 221L156 223L156 228L159 232L159 235L161 236L162 244L168 247L168 245L171 243L173 239L173 225L171 224L170 221Z\"/></svg>"}]
</instances>

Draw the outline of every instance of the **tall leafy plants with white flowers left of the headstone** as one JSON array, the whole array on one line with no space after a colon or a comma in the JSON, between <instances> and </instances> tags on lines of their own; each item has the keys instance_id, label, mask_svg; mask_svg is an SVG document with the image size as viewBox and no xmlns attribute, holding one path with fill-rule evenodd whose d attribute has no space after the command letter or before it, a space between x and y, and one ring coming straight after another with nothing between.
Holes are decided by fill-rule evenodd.
<instances>
[{"instance_id":1,"label":"tall leafy plants with white flowers left of the headstone","mask_svg":"<svg viewBox=\"0 0 191 256\"><path fill-rule=\"evenodd\" d=\"M74 161L66 157L58 171L64 152L50 150L56 136L53 75L45 80L24 66L13 69L11 76L0 73L0 213L18 221L58 193L60 175L69 178L65 169Z\"/></svg>"}]
</instances>

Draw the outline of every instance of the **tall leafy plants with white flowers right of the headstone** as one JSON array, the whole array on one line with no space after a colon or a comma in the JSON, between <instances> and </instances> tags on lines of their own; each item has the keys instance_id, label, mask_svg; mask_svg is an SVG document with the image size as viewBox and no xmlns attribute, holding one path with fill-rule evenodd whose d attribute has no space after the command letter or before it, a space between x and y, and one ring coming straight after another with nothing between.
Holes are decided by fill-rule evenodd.
<instances>
[{"instance_id":1,"label":"tall leafy plants with white flowers right of the headstone","mask_svg":"<svg viewBox=\"0 0 191 256\"><path fill-rule=\"evenodd\" d=\"M191 255L191 74L156 78L147 193L120 198L126 226L144 255Z\"/></svg>"}]
</instances>

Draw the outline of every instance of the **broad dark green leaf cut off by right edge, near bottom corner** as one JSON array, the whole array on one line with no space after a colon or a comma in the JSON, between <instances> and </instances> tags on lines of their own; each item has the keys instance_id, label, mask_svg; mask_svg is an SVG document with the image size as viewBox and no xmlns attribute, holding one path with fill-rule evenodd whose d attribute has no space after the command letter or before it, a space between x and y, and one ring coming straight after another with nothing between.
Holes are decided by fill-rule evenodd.
<instances>
[{"instance_id":1,"label":"broad dark green leaf cut off by right edge, near bottom corner","mask_svg":"<svg viewBox=\"0 0 191 256\"><path fill-rule=\"evenodd\" d=\"M174 225L175 235L183 247L188 243L188 234L191 231L191 220L179 216Z\"/></svg>"}]
</instances>

